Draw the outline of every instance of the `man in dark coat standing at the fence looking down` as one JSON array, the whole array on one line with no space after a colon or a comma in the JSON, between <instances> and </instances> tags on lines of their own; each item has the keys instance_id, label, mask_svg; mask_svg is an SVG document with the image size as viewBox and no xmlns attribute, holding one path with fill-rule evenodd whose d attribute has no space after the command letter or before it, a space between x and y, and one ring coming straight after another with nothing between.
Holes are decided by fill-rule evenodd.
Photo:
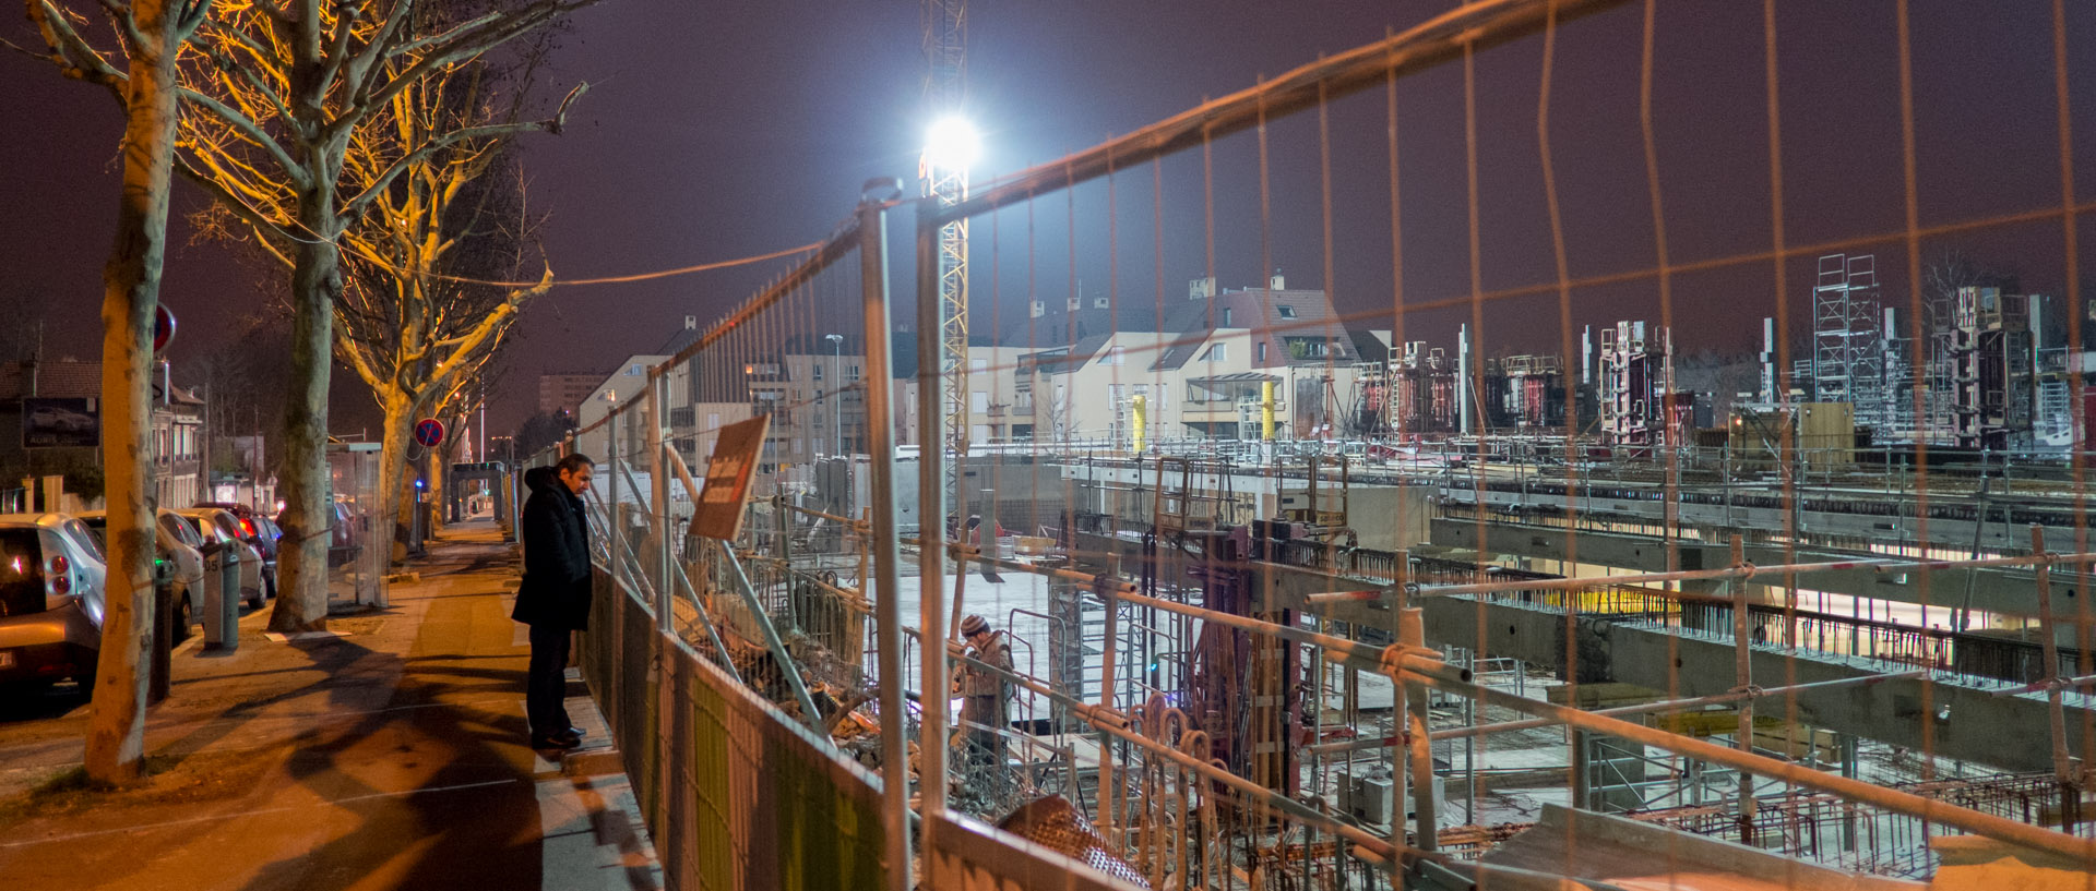
<instances>
[{"instance_id":1,"label":"man in dark coat standing at the fence looking down","mask_svg":"<svg viewBox=\"0 0 2096 891\"><path fill-rule=\"evenodd\" d=\"M511 619L530 625L530 673L524 713L532 749L574 749L583 730L568 719L568 642L589 627L589 521L583 492L595 462L570 454L553 466L524 473L530 498L518 519L524 538L524 581Z\"/></svg>"}]
</instances>

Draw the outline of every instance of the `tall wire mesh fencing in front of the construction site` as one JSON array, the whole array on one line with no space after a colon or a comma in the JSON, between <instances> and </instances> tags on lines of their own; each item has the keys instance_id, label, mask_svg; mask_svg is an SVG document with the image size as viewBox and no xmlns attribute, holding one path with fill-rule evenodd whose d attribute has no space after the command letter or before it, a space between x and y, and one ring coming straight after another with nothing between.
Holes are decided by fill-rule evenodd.
<instances>
[{"instance_id":1,"label":"tall wire mesh fencing in front of the construction site","mask_svg":"<svg viewBox=\"0 0 2096 891\"><path fill-rule=\"evenodd\" d=\"M2090 872L2092 23L1476 2L882 203L914 297L832 241L576 439L654 696L878 770L933 887L1056 801L1071 885ZM1920 86L2052 98L1985 180Z\"/></svg>"}]
</instances>

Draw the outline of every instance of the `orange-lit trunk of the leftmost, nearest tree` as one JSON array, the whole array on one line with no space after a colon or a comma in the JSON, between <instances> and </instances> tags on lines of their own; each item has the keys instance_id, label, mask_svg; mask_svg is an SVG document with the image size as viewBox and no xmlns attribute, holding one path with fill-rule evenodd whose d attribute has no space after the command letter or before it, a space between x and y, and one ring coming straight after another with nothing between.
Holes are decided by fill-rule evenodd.
<instances>
[{"instance_id":1,"label":"orange-lit trunk of the leftmost, nearest tree","mask_svg":"<svg viewBox=\"0 0 2096 891\"><path fill-rule=\"evenodd\" d=\"M136 0L143 40L130 46L124 84L124 197L117 238L103 268L103 464L109 504L109 575L103 646L88 717L86 772L130 782L145 755L147 646L153 640L153 307L168 249L168 178L174 169L176 13ZM176 4L176 10L180 4Z\"/></svg>"}]
</instances>

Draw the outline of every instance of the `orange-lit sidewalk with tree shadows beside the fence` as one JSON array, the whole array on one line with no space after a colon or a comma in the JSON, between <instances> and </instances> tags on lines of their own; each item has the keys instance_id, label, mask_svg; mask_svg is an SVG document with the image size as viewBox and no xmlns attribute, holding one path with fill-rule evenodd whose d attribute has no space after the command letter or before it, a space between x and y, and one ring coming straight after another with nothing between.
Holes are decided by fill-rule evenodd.
<instances>
[{"instance_id":1,"label":"orange-lit sidewalk with tree shadows beside the fence","mask_svg":"<svg viewBox=\"0 0 2096 891\"><path fill-rule=\"evenodd\" d=\"M191 638L172 694L147 713L140 789L52 791L80 766L88 709L0 699L0 876L50 889L660 887L578 680L568 709L589 745L566 774L526 747L528 646L497 529L453 527L411 569L419 579L394 584L390 609L337 615L331 636L272 640L264 609L241 619L235 653Z\"/></svg>"}]
</instances>

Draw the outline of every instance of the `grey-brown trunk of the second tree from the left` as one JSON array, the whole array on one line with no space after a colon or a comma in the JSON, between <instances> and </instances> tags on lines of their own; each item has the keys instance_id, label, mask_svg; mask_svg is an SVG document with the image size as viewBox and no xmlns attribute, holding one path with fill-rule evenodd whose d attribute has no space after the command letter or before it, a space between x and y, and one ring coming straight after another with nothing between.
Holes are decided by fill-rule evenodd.
<instances>
[{"instance_id":1,"label":"grey-brown trunk of the second tree from the left","mask_svg":"<svg viewBox=\"0 0 2096 891\"><path fill-rule=\"evenodd\" d=\"M325 153L329 148L314 148ZM291 379L283 408L285 502L283 540L277 550L277 609L270 632L314 632L327 627L327 544L335 519L327 475L327 376L333 360L333 310L342 291L342 255L335 249L335 169L327 159L308 159L316 195L300 199L300 224L291 268ZM379 529L361 529L365 548Z\"/></svg>"}]
</instances>

